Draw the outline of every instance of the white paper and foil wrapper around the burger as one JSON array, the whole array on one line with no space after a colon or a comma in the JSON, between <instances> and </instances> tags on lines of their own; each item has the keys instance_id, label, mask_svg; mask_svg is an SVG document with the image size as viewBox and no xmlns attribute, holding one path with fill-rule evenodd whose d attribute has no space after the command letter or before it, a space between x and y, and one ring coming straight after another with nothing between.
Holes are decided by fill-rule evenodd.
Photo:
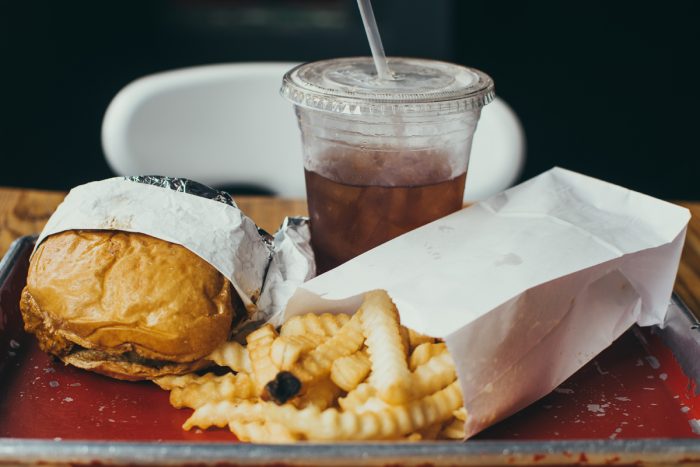
<instances>
[{"instance_id":1,"label":"white paper and foil wrapper around the burger","mask_svg":"<svg viewBox=\"0 0 700 467\"><path fill-rule=\"evenodd\" d=\"M307 219L285 219L273 237L228 193L184 178L115 177L75 187L36 244L66 230L140 232L182 245L231 281L255 321L273 319L315 275Z\"/></svg>"}]
</instances>

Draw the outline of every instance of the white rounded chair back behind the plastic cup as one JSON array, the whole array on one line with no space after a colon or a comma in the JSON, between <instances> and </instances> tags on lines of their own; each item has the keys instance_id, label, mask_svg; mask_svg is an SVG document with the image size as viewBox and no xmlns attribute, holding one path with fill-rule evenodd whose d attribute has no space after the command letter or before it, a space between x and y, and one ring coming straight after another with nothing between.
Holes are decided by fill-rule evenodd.
<instances>
[{"instance_id":1,"label":"white rounded chair back behind the plastic cup","mask_svg":"<svg viewBox=\"0 0 700 467\"><path fill-rule=\"evenodd\" d=\"M102 122L107 162L120 175L187 177L305 197L301 139L292 104L279 95L294 63L235 63L158 73L122 89ZM525 140L500 99L482 111L465 200L515 182Z\"/></svg>"}]
</instances>

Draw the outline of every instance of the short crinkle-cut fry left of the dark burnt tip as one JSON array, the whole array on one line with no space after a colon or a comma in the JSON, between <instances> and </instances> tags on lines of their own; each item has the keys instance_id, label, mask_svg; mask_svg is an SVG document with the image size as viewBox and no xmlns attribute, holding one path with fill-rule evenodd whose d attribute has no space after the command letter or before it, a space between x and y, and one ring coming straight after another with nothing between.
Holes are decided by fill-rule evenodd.
<instances>
[{"instance_id":1,"label":"short crinkle-cut fry left of the dark burnt tip","mask_svg":"<svg viewBox=\"0 0 700 467\"><path fill-rule=\"evenodd\" d=\"M255 397L255 384L246 373L227 373L206 381L194 381L170 391L170 403L180 409L196 409L208 402Z\"/></svg>"}]
</instances>

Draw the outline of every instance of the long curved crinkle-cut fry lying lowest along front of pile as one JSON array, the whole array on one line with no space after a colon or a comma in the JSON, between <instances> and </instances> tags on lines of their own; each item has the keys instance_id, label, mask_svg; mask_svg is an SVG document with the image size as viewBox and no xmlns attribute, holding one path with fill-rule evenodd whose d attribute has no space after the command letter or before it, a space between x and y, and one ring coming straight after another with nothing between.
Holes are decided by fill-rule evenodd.
<instances>
[{"instance_id":1,"label":"long curved crinkle-cut fry lying lowest along front of pile","mask_svg":"<svg viewBox=\"0 0 700 467\"><path fill-rule=\"evenodd\" d=\"M358 414L340 412L335 408L321 411L316 407L299 410L290 404L253 404L247 401L230 404L223 411L230 420L283 423L291 432L301 434L309 440L328 441L399 439L433 423L449 419L452 411L460 405L462 394L455 382L435 394L405 405L389 406L380 412ZM202 408L204 407L207 406Z\"/></svg>"}]
</instances>

